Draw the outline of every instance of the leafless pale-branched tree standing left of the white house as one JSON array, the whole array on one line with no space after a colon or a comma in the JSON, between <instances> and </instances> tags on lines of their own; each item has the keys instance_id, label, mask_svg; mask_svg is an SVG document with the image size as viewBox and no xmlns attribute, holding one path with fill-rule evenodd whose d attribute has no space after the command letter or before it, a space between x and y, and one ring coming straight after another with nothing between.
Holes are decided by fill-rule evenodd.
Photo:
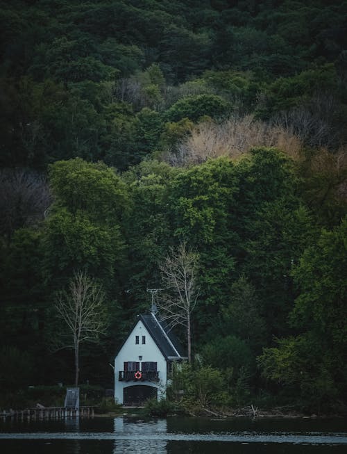
<instances>
[{"instance_id":1,"label":"leafless pale-branched tree standing left of the white house","mask_svg":"<svg viewBox=\"0 0 347 454\"><path fill-rule=\"evenodd\" d=\"M99 285L84 271L74 273L68 291L58 293L56 311L62 321L58 333L60 348L73 348L75 385L78 384L80 344L96 341L106 327L105 295Z\"/></svg>"}]
</instances>

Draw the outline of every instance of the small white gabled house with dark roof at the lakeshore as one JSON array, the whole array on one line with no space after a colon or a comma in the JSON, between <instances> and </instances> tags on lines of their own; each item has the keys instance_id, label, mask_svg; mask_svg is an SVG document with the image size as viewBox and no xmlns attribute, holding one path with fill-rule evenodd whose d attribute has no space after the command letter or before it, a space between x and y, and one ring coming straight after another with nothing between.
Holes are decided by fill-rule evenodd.
<instances>
[{"instance_id":1,"label":"small white gabled house with dark roof at the lakeshore","mask_svg":"<svg viewBox=\"0 0 347 454\"><path fill-rule=\"evenodd\" d=\"M115 400L140 405L165 398L172 363L187 359L174 334L154 312L137 316L135 326L115 357Z\"/></svg>"}]
</instances>

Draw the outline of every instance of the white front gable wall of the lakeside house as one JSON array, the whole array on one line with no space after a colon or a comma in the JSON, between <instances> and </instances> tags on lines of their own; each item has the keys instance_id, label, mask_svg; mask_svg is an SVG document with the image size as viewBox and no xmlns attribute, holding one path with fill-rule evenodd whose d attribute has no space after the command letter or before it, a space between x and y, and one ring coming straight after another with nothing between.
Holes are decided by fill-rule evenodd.
<instances>
[{"instance_id":1,"label":"white front gable wall of the lakeside house","mask_svg":"<svg viewBox=\"0 0 347 454\"><path fill-rule=\"evenodd\" d=\"M139 336L139 343L135 343L135 336ZM146 336L146 343L142 344L142 336ZM139 361L139 356L142 356L142 361ZM136 381L136 382L119 382L119 371L124 371L124 362L135 361L135 362L146 362L153 361L157 363L159 382L147 382L147 381ZM141 365L140 365L141 368ZM167 362L160 352L159 348L153 341L151 334L146 330L146 327L142 321L138 321L133 331L130 333L128 339L124 343L124 346L119 351L117 357L115 357L115 400L117 403L123 403L123 390L126 387L134 385L148 385L158 388L158 399L165 398L166 387L167 387Z\"/></svg>"}]
</instances>

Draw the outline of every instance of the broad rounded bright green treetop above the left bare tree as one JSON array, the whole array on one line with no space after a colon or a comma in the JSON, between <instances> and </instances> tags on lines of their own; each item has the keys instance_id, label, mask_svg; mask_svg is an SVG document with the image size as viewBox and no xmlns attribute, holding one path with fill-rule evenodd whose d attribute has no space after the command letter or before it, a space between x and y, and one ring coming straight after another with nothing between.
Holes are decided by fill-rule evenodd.
<instances>
[{"instance_id":1,"label":"broad rounded bright green treetop above the left bare tree","mask_svg":"<svg viewBox=\"0 0 347 454\"><path fill-rule=\"evenodd\" d=\"M56 202L46 220L46 277L60 270L65 279L85 269L110 286L121 266L124 239L119 222L126 209L126 187L103 163L58 161L50 169Z\"/></svg>"}]
</instances>

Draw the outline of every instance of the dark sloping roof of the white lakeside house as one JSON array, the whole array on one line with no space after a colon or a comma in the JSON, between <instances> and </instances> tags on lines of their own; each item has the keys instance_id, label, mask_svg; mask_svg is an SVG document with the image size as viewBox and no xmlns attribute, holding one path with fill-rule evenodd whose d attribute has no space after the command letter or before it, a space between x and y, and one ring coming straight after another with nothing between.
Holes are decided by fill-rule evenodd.
<instances>
[{"instance_id":1,"label":"dark sloping roof of the white lakeside house","mask_svg":"<svg viewBox=\"0 0 347 454\"><path fill-rule=\"evenodd\" d=\"M149 334L151 334L166 359L186 357L180 342L174 333L168 330L166 324L160 322L153 314L140 315L139 319L149 331Z\"/></svg>"}]
</instances>

